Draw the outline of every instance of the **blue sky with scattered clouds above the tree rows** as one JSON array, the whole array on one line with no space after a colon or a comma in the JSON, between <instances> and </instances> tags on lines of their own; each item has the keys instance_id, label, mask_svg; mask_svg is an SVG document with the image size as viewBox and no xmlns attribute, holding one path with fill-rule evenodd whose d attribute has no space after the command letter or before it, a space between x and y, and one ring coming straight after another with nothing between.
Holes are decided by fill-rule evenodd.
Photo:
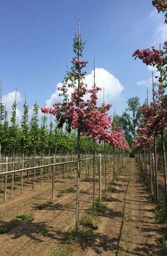
<instances>
[{"instance_id":1,"label":"blue sky with scattered clouds above the tree rows","mask_svg":"<svg viewBox=\"0 0 167 256\"><path fill-rule=\"evenodd\" d=\"M1 0L0 78L3 102L10 107L17 88L18 116L25 93L30 111L58 100L57 87L73 58L73 37L80 31L86 40L83 59L86 81L105 90L106 103L118 115L130 97L151 100L152 71L132 57L136 49L149 48L167 39L164 14L151 0ZM103 98L99 95L100 100Z\"/></svg>"}]
</instances>

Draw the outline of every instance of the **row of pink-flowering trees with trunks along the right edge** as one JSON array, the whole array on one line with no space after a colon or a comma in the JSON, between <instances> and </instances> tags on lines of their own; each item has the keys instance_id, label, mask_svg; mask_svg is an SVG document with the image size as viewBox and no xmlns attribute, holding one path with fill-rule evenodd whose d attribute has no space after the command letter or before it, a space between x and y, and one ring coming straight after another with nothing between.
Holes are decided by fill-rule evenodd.
<instances>
[{"instance_id":1,"label":"row of pink-flowering trees with trunks along the right edge","mask_svg":"<svg viewBox=\"0 0 167 256\"><path fill-rule=\"evenodd\" d=\"M158 12L165 12L165 23L167 24L167 2L153 0L152 4ZM167 220L167 177L166 177L166 155L167 155L167 41L161 49L136 50L133 57L141 59L147 66L153 66L158 71L158 76L153 80L152 102L145 104L141 108L141 119L137 130L137 136L133 141L133 149L138 154L138 161L145 162L146 182L154 196L155 203L159 206L161 201L165 209ZM152 163L150 160L152 155ZM149 159L148 159L149 157ZM152 166L148 172L148 165ZM143 169L143 167L142 167ZM163 172L164 185L163 193L159 193L159 171Z\"/></svg>"}]
</instances>

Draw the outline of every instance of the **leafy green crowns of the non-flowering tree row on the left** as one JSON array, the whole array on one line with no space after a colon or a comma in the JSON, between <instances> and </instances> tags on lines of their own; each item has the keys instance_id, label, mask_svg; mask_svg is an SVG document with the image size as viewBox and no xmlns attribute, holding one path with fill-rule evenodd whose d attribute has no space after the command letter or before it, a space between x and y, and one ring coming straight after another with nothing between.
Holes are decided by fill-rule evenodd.
<instances>
[{"instance_id":1,"label":"leafy green crowns of the non-flowering tree row on the left","mask_svg":"<svg viewBox=\"0 0 167 256\"><path fill-rule=\"evenodd\" d=\"M29 107L23 105L23 115L21 123L17 123L17 104L12 104L12 114L10 124L8 112L5 105L1 103L1 122L0 122L0 157L1 156L23 156L23 155L53 155L53 154L74 154L77 152L77 132L76 130L68 133L65 129L56 126L55 120L46 115L38 119L39 106L34 104L32 117L29 117ZM48 120L50 119L50 120ZM89 137L81 137L81 152L91 153L93 151L93 140ZM96 141L97 153L104 152L104 145ZM110 146L106 146L108 153L112 152Z\"/></svg>"}]
</instances>

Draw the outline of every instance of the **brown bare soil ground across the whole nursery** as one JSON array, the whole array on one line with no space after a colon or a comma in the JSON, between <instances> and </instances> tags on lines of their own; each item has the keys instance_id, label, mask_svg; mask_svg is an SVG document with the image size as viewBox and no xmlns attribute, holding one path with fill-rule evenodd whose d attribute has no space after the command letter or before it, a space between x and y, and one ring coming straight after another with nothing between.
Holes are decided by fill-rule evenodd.
<instances>
[{"instance_id":1,"label":"brown bare soil ground across the whole nursery","mask_svg":"<svg viewBox=\"0 0 167 256\"><path fill-rule=\"evenodd\" d=\"M104 189L104 174L102 181ZM43 183L35 190L2 202L1 227L8 232L0 235L1 255L167 255L167 248L161 243L166 225L153 215L156 206L143 185L135 160L129 159L115 182L109 168L107 183L112 185L112 191L105 195L106 208L94 217L97 229L84 243L69 244L66 237L69 227L75 227L74 174L56 180L54 199L51 199L51 183ZM92 177L82 176L81 215L92 205L92 187ZM21 212L29 212L32 218L12 220Z\"/></svg>"}]
</instances>

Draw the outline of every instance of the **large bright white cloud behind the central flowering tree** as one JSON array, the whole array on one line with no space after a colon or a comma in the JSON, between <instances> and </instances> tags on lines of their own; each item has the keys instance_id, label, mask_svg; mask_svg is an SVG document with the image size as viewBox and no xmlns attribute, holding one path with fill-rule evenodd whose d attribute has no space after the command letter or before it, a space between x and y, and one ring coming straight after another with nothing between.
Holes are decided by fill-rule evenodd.
<instances>
[{"instance_id":1,"label":"large bright white cloud behind the central flowering tree","mask_svg":"<svg viewBox=\"0 0 167 256\"><path fill-rule=\"evenodd\" d=\"M104 88L104 94L105 94L105 102L106 103L112 103L112 99L118 97L121 95L121 92L124 90L124 87L120 83L120 81L115 78L111 73L109 73L107 70L103 68L96 68L95 69L95 82L98 87L102 88L102 92L99 92L98 94L98 102L103 102L103 88ZM92 70L90 74L85 76L85 83L89 88L92 88L94 83L94 71ZM58 83L56 85L56 91L51 95L50 99L45 100L45 105L47 107L51 107L53 103L57 101L61 101L61 98L58 96L59 91L58 87L61 86L61 83ZM70 94L72 92L72 89L68 90L68 93Z\"/></svg>"}]
</instances>

